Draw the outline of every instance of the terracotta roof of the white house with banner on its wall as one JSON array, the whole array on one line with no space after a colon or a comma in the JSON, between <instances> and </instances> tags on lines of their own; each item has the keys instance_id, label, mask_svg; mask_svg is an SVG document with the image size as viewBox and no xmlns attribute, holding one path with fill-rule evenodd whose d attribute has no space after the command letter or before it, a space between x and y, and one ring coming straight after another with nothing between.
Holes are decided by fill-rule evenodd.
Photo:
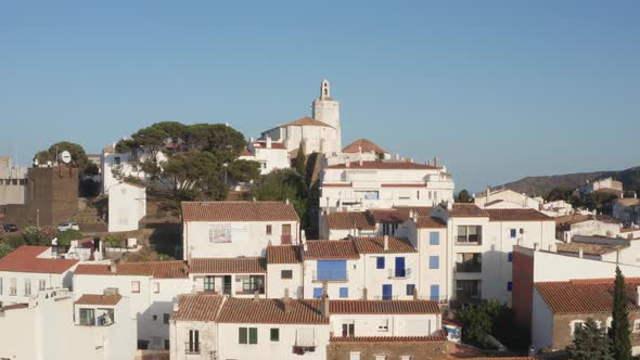
<instances>
[{"instance_id":1,"label":"terracotta roof of the white house with banner on its wall","mask_svg":"<svg viewBox=\"0 0 640 360\"><path fill-rule=\"evenodd\" d=\"M184 221L299 221L283 202L182 202Z\"/></svg>"}]
</instances>

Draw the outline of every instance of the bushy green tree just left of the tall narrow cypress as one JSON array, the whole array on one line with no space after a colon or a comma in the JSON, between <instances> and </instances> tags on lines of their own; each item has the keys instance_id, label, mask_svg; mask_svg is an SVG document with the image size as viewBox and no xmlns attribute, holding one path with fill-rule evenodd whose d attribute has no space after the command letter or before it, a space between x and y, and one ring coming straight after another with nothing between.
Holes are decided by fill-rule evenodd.
<instances>
[{"instance_id":1,"label":"bushy green tree just left of the tall narrow cypress","mask_svg":"<svg viewBox=\"0 0 640 360\"><path fill-rule=\"evenodd\" d=\"M611 353L611 339L591 318L576 327L573 345L567 350L571 352L572 358L576 360L614 359Z\"/></svg>"}]
</instances>

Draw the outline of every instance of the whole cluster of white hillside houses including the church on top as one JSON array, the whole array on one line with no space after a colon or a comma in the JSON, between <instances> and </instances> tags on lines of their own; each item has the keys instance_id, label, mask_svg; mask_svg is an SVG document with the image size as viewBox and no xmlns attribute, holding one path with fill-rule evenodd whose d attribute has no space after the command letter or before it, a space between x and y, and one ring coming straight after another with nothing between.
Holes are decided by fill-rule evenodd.
<instances>
[{"instance_id":1,"label":"whole cluster of white hillside houses including the church on top","mask_svg":"<svg viewBox=\"0 0 640 360\"><path fill-rule=\"evenodd\" d=\"M435 154L419 162L368 139L343 146L331 91L322 80L310 116L240 154L263 175L291 167L300 144L318 154L318 239L289 200L203 201L181 203L172 260L118 261L102 243L20 246L0 258L0 359L453 359L481 351L463 343L456 310L482 300L513 309L525 359L564 349L589 318L611 324L616 267L640 334L640 203L622 183L577 190L615 193L614 217L509 189L456 202ZM94 159L108 232L137 231L146 215L146 175L132 157L112 144ZM74 171L3 159L4 219L68 220ZM128 239L119 250L141 247ZM632 345L640 353L640 336Z\"/></svg>"}]
</instances>

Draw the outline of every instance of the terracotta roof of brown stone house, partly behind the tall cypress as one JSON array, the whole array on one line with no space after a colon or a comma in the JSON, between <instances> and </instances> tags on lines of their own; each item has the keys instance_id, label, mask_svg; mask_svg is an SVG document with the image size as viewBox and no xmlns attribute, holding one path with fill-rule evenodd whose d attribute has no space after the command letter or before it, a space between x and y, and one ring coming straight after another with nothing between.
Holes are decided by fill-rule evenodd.
<instances>
[{"instance_id":1,"label":"terracotta roof of brown stone house, partly behind the tall cypress","mask_svg":"<svg viewBox=\"0 0 640 360\"><path fill-rule=\"evenodd\" d=\"M613 279L571 280L536 283L538 293L553 313L611 312L613 307ZM639 312L636 296L640 279L626 278L627 309Z\"/></svg>"}]
</instances>

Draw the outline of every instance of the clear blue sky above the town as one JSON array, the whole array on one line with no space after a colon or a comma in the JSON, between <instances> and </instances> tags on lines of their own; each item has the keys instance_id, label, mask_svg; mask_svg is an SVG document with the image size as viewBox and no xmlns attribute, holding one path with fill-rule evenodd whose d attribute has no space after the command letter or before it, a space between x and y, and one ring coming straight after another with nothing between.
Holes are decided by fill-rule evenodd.
<instances>
[{"instance_id":1,"label":"clear blue sky above the town","mask_svg":"<svg viewBox=\"0 0 640 360\"><path fill-rule=\"evenodd\" d=\"M343 143L438 156L457 189L640 165L640 1L12 1L0 154L89 153L155 121L257 137L310 115Z\"/></svg>"}]
</instances>

